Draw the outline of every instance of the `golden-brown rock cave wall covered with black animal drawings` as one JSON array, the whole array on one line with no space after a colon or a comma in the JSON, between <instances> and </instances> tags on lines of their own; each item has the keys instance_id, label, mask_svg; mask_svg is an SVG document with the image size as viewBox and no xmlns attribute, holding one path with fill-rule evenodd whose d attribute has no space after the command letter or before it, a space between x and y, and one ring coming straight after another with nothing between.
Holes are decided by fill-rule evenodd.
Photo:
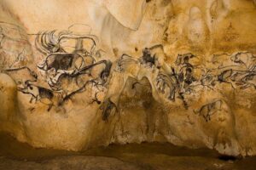
<instances>
[{"instance_id":1,"label":"golden-brown rock cave wall covered with black animal drawings","mask_svg":"<svg viewBox=\"0 0 256 170\"><path fill-rule=\"evenodd\" d=\"M65 150L168 141L255 155L254 1L0 5L1 130Z\"/></svg>"}]
</instances>

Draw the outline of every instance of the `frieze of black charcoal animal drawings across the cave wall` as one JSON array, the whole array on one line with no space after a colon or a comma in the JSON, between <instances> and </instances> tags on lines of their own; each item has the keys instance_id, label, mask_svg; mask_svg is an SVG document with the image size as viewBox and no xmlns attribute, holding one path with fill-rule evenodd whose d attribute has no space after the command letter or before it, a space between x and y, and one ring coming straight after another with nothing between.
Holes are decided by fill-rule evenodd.
<instances>
[{"instance_id":1,"label":"frieze of black charcoal animal drawings across the cave wall","mask_svg":"<svg viewBox=\"0 0 256 170\"><path fill-rule=\"evenodd\" d=\"M3 31L3 29L0 31ZM69 41L75 42L72 51L68 51L67 47L63 45L63 42ZM2 43L1 45L3 45ZM89 45L86 46L84 44ZM106 99L103 99L104 102L98 99L100 92L105 91L107 88L112 88L111 84L108 83L108 79L109 77L113 78L113 72L115 71L122 74L123 77L135 78L137 82L131 85L131 89L135 89L137 84L140 83L137 77L138 74L141 74L139 71L141 69L151 69L152 73L147 73L150 76L145 73L142 74L143 77L148 78L151 87L156 88L156 93L162 97L166 95L166 99L171 101L172 104L177 103L177 99L181 100L186 110L190 107L189 99L191 96L198 95L204 88L215 91L218 85L225 83L230 84L230 87L234 90L236 88L241 90L247 88L256 89L256 56L247 51L234 54L213 54L213 60L216 57L225 56L230 64L219 63L217 62L218 59L215 59L216 62L214 64L218 67L208 68L205 65L195 65L191 60L200 58L191 53L178 54L175 62L171 65L165 61L163 64L160 60L165 60L163 57L166 58L166 54L163 45L157 44L144 48L143 55L139 59L133 58L129 54L123 54L115 61L117 67L112 69L113 63L111 61L106 59L98 60L101 49L97 50L96 46L96 36L94 35L78 35L72 31L42 31L35 38L35 47L40 54L44 55L43 61L38 65L38 70L45 75L49 88L37 84L39 83L38 74L36 71L32 71L29 66L13 68L12 65L9 65L9 68L3 71L27 71L32 78L19 82L18 84L23 85L23 87L19 87L18 90L23 94L30 94L32 96L31 102L32 100L48 99L48 111L51 108L50 105L54 103L52 101L53 98L57 98L56 103L61 106L76 94L84 93L88 85L91 85L90 89L95 89L95 93L90 105L94 103L101 105L103 121L108 121L108 116L111 115L113 108L118 111L119 101L111 100L109 96L112 96L112 94L107 94ZM20 57L18 58L20 59ZM17 62L20 62L20 60ZM169 71L166 71L163 65L169 67ZM138 68L137 73L131 72L133 71L132 67ZM196 69L203 72L201 77L195 77ZM154 79L152 78L153 74L157 74ZM65 82L66 80L68 82ZM127 79L124 80L127 81ZM125 86L126 82L115 83L124 83ZM72 88L72 90L67 89L71 85L75 88ZM118 90L120 89L114 89L113 93ZM218 101L221 101L221 99ZM218 101L202 105L194 111L203 116L208 122L216 112L214 110ZM221 102L219 103L221 105Z\"/></svg>"}]
</instances>

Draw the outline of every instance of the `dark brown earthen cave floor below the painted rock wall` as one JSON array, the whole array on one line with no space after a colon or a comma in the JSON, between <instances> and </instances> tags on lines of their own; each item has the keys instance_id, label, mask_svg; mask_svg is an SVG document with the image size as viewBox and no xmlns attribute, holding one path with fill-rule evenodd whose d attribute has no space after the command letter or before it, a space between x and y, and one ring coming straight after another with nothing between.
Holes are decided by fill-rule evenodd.
<instances>
[{"instance_id":1,"label":"dark brown earthen cave floor below the painted rock wall","mask_svg":"<svg viewBox=\"0 0 256 170\"><path fill-rule=\"evenodd\" d=\"M172 144L111 144L81 152L35 149L0 133L0 169L256 169L256 157L237 159L214 150Z\"/></svg>"}]
</instances>

